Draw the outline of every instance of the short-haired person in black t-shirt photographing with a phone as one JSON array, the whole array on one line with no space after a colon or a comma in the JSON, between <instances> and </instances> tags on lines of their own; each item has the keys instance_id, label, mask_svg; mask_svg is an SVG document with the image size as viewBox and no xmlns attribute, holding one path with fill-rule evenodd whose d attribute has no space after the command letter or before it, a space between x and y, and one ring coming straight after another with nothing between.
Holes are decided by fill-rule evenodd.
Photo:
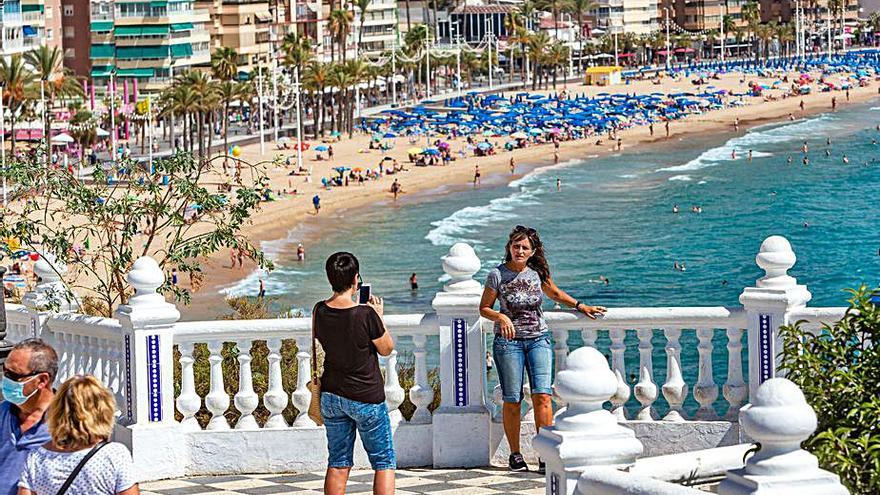
<instances>
[{"instance_id":1,"label":"short-haired person in black t-shirt photographing with a phone","mask_svg":"<svg viewBox=\"0 0 880 495\"><path fill-rule=\"evenodd\" d=\"M373 493L390 495L397 457L377 353L390 355L394 340L382 319L384 304L376 296L364 305L353 300L360 281L353 254L334 253L325 269L333 294L312 310L315 338L325 353L320 378L328 450L324 493L345 493L357 431L375 471Z\"/></svg>"}]
</instances>

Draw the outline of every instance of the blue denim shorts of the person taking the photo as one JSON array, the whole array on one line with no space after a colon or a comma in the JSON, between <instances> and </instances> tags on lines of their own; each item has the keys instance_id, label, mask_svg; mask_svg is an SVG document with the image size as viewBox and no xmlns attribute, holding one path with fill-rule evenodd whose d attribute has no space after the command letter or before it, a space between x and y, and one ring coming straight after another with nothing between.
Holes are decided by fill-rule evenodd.
<instances>
[{"instance_id":1,"label":"blue denim shorts of the person taking the photo","mask_svg":"<svg viewBox=\"0 0 880 495\"><path fill-rule=\"evenodd\" d=\"M354 466L354 436L357 431L375 471L397 468L391 420L384 402L368 404L321 392L321 415L324 416L324 428L327 430L327 467Z\"/></svg>"}]
</instances>

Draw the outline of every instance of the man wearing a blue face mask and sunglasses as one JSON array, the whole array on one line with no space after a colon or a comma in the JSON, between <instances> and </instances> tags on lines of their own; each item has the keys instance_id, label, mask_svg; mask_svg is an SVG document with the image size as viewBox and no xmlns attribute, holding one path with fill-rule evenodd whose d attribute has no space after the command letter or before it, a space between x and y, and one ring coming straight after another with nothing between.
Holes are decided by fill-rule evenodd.
<instances>
[{"instance_id":1,"label":"man wearing a blue face mask and sunglasses","mask_svg":"<svg viewBox=\"0 0 880 495\"><path fill-rule=\"evenodd\" d=\"M0 402L0 495L18 493L28 454L51 440L44 416L57 373L58 354L40 339L19 342L6 358Z\"/></svg>"}]
</instances>

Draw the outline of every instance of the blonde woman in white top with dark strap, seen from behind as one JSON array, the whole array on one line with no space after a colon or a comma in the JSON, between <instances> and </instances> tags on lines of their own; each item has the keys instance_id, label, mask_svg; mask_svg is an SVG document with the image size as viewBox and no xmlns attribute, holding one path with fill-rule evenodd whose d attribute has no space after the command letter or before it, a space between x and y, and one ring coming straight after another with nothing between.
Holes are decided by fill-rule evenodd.
<instances>
[{"instance_id":1,"label":"blonde woman in white top with dark strap, seen from behind","mask_svg":"<svg viewBox=\"0 0 880 495\"><path fill-rule=\"evenodd\" d=\"M137 495L131 454L109 442L116 401L93 376L64 382L49 405L52 440L31 452L18 495Z\"/></svg>"}]
</instances>

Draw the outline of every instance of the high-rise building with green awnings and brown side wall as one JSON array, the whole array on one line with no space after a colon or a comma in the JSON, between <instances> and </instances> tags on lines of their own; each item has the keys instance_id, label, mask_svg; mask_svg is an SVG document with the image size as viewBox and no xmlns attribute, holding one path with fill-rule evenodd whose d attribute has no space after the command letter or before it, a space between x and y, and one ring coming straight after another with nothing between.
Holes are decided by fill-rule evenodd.
<instances>
[{"instance_id":1,"label":"high-rise building with green awnings and brown side wall","mask_svg":"<svg viewBox=\"0 0 880 495\"><path fill-rule=\"evenodd\" d=\"M210 62L207 10L192 0L63 0L65 65L99 83L112 71L146 89Z\"/></svg>"}]
</instances>

